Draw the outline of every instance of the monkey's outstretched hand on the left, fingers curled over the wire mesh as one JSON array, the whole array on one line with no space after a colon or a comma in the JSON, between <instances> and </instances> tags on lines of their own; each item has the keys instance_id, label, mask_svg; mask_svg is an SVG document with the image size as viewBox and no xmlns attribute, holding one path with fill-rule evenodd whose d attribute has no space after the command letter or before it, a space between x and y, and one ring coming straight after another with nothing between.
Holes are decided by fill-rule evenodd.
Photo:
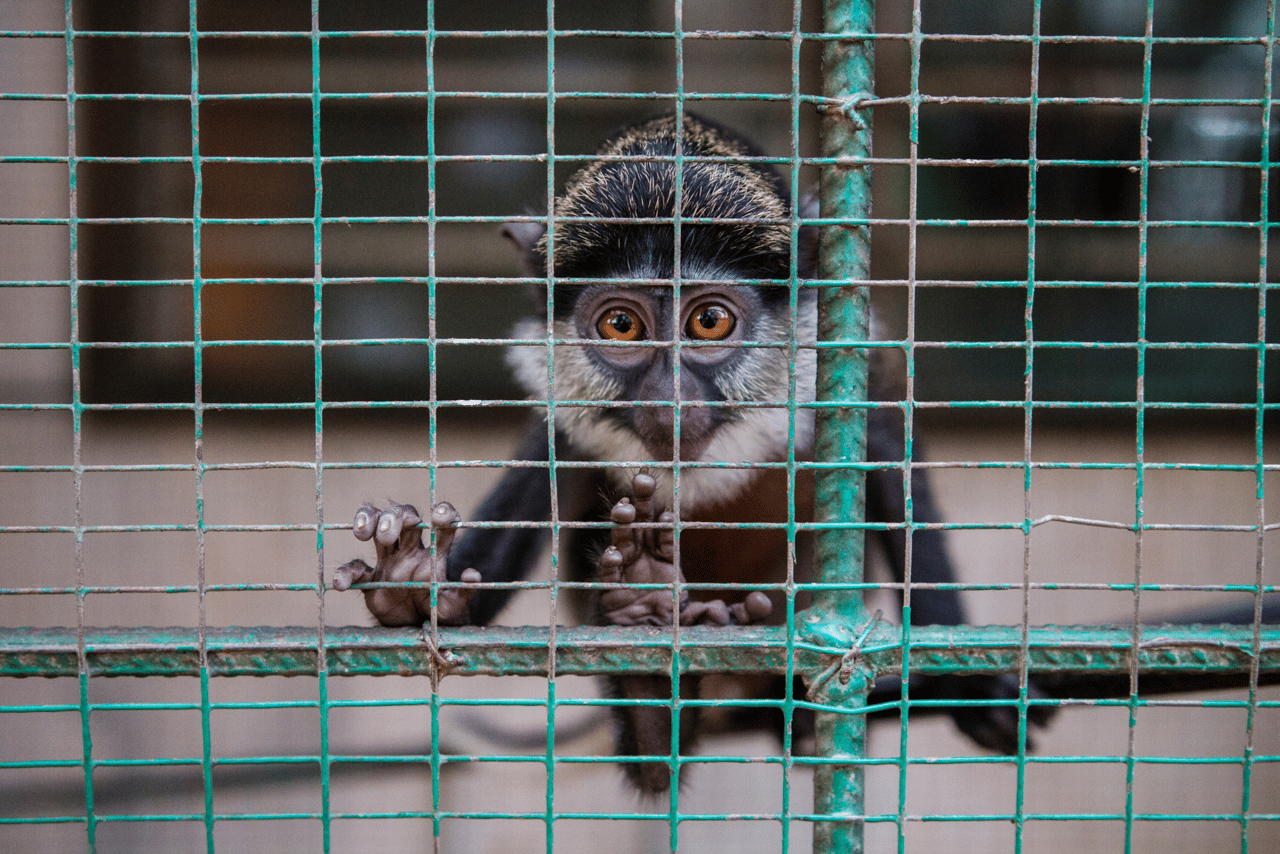
<instances>
[{"instance_id":1,"label":"monkey's outstretched hand on the left, fingers curled over the wire mesh","mask_svg":"<svg viewBox=\"0 0 1280 854\"><path fill-rule=\"evenodd\" d=\"M356 511L352 530L358 540L374 540L378 566L369 566L360 558L343 563L333 574L335 590L346 590L364 581L444 581L445 561L457 524L458 511L447 501L431 508L431 528L435 530L435 556L422 544L422 519L412 504L393 504L379 510L365 504ZM461 581L480 581L476 570L463 570ZM467 622L467 603L474 590L444 588L436 592L436 620L444 625ZM384 626L419 626L431 616L430 588L367 588L365 604L378 622Z\"/></svg>"}]
</instances>

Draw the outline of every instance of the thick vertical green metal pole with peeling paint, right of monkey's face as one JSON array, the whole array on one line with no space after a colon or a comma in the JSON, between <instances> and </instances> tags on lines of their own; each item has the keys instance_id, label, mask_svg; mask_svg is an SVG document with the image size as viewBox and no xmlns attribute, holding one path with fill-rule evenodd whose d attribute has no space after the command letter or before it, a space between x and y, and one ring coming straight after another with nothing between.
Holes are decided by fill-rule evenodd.
<instances>
[{"instance_id":1,"label":"thick vertical green metal pole with peeling paint, right of monkey's face","mask_svg":"<svg viewBox=\"0 0 1280 854\"><path fill-rule=\"evenodd\" d=\"M826 32L837 36L823 50L823 157L838 157L822 175L823 219L845 224L822 234L819 277L844 284L823 287L818 297L818 339L861 342L867 339L867 288L854 284L870 271L870 113L858 104L873 90L874 22L872 0L827 0ZM818 401L852 406L820 407L815 457L820 462L858 465L867 456L867 351L858 347L824 347L818 351ZM815 519L822 524L860 522L864 519L861 471L819 471L815 479ZM819 584L860 583L863 577L863 531L852 528L819 528L814 539L814 580ZM858 593L827 589L814 593L806 617L806 634L820 643L847 647L865 622L865 607ZM814 812L832 816L814 828L814 849L854 853L863 850L867 720L861 708L870 680L854 671L847 679L829 679L817 702L837 711L818 713L818 752L827 762L814 776ZM847 763L842 762L847 759Z\"/></svg>"}]
</instances>

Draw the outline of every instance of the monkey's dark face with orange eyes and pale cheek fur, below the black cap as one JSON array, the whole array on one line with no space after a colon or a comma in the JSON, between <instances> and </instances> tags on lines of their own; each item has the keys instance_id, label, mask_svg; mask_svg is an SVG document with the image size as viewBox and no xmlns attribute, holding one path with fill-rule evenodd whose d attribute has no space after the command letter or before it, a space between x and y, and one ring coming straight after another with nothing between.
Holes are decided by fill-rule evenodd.
<instances>
[{"instance_id":1,"label":"monkey's dark face with orange eyes and pale cheek fur, below the black cap","mask_svg":"<svg viewBox=\"0 0 1280 854\"><path fill-rule=\"evenodd\" d=\"M557 430L572 447L630 463L609 469L620 485L635 466L654 470L666 502L672 461L776 462L788 435L808 447L813 412L796 405L813 399L815 366L805 347L815 334L812 293L799 294L792 315L787 288L696 282L680 288L678 305L673 292L630 282L558 286L550 384L545 346L509 351L531 397L554 399ZM547 321L531 318L516 334L544 339ZM755 474L685 469L681 501L718 503Z\"/></svg>"}]
</instances>

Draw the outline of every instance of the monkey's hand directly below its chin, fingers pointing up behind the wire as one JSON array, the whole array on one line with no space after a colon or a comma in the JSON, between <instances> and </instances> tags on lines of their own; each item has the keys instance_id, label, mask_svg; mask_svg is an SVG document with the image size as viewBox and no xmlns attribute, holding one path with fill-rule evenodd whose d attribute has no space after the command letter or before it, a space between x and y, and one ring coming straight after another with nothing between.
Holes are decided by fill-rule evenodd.
<instances>
[{"instance_id":1,"label":"monkey's hand directly below its chin, fingers pointing up behind the wire","mask_svg":"<svg viewBox=\"0 0 1280 854\"><path fill-rule=\"evenodd\" d=\"M604 625L669 626L675 620L676 598L669 589L636 590L631 584L676 584L680 625L714 625L759 622L769 616L773 604L760 592L745 602L726 604L723 599L691 602L689 593L678 589L685 575L675 563L675 535L667 528L632 528L634 522L671 525L669 511L654 516L653 493L657 481L646 472L631 480L632 499L622 498L613 506L613 544L598 561L599 579L614 584L600 594L599 611Z\"/></svg>"}]
</instances>

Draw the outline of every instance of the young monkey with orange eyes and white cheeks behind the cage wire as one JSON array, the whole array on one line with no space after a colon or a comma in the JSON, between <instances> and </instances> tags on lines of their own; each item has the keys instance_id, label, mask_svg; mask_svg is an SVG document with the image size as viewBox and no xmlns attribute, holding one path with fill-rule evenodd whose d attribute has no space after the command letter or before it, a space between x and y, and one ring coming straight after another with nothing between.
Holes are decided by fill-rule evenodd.
<instances>
[{"instance_id":1,"label":"young monkey with orange eyes and white cheeks behind the cage wire","mask_svg":"<svg viewBox=\"0 0 1280 854\"><path fill-rule=\"evenodd\" d=\"M677 152L684 157L678 173ZM687 111L659 115L611 134L568 178L556 198L550 230L538 222L508 224L506 236L535 282L540 306L517 324L515 338L526 343L512 346L508 361L530 398L547 402L553 415L543 410L532 419L513 453L513 460L531 465L507 469L475 519L544 525L475 528L457 536L461 515L440 502L429 519L436 538L433 556L416 508L365 504L356 512L353 533L374 542L376 565L360 558L343 565L334 572L335 589L367 581L524 579L549 538L548 462L554 451L557 461L599 463L556 474L566 503L562 520L609 522L571 528L564 538L568 577L600 584L590 606L594 624L723 626L785 615L778 589L728 600L714 586L684 586L781 588L790 548L783 530L694 526L675 534L677 521L786 522L786 470L751 463L787 462L788 440L797 461L813 460L814 411L803 405L815 394L817 294L808 287L792 294L791 282L792 265L799 279L817 273L817 229L800 227L794 237L787 182L759 157L750 141L716 122ZM548 277L554 278L549 319ZM561 342L554 344L553 378L547 346L527 343L545 339L548 323ZM873 398L901 399L890 373L873 359ZM792 384L801 406L787 406ZM904 475L904 444L901 410L869 408L867 456L879 467L867 472L867 516L887 524L874 535L899 581L908 571L904 476L910 478L913 519L941 521L925 471ZM677 461L701 465L677 470ZM564 488L575 480L572 490ZM803 466L795 475L794 503L795 519L813 517L813 479ZM954 583L942 531L919 529L911 538L913 581ZM805 543L797 538L795 581L812 577ZM631 586L636 584L675 584L677 593L669 586L637 590ZM421 625L431 618L426 588L365 588L364 594L381 624ZM485 625L508 597L504 589L440 588L435 620ZM797 599L796 607L803 604ZM965 622L954 589L915 590L911 604L916 625ZM699 697L703 680L684 677L675 689L666 676L607 682L616 698L671 700L673 690ZM773 699L783 698L787 688L781 676L746 682L742 690ZM932 689L936 697L956 699L1018 697L1016 679L1007 676L938 677ZM759 708L740 711L751 726L762 725ZM782 725L780 709L767 712L773 713L771 726ZM678 748L685 754L696 736L698 712L686 705L681 714ZM635 759L671 754L671 717L660 705L616 707L616 748L620 757L632 758L623 768L644 794L671 786L668 763ZM952 717L982 746L1018 750L1015 708L957 707ZM1046 708L1032 707L1029 722L1043 726L1047 717ZM797 737L812 731L806 721L796 713Z\"/></svg>"}]
</instances>

